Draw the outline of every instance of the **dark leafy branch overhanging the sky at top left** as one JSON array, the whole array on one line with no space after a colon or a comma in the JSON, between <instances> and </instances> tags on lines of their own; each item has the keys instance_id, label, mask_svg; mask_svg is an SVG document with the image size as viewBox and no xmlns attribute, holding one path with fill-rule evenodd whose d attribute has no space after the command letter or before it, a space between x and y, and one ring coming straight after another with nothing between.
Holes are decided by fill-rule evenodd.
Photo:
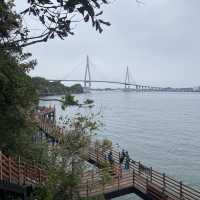
<instances>
[{"instance_id":1,"label":"dark leafy branch overhanging the sky at top left","mask_svg":"<svg viewBox=\"0 0 200 200\"><path fill-rule=\"evenodd\" d=\"M28 0L29 6L21 15L11 11L14 6L12 1L1 4L1 23L9 24L0 30L3 33L1 46L5 49L46 42L55 37L64 39L73 35L73 26L82 21L91 21L99 33L103 31L102 25L110 25L99 18L103 14L102 6L108 4L107 0ZM31 35L31 31L23 27L24 15L32 15L40 22L42 30L38 35Z\"/></svg>"}]
</instances>

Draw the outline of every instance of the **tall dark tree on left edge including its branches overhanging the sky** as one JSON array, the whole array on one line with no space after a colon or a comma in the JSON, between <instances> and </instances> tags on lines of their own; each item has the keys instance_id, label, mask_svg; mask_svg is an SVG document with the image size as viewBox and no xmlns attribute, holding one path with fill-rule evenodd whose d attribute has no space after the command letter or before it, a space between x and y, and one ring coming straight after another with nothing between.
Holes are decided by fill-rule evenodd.
<instances>
[{"instance_id":1,"label":"tall dark tree on left edge including its branches overhanging the sky","mask_svg":"<svg viewBox=\"0 0 200 200\"><path fill-rule=\"evenodd\" d=\"M66 37L67 32L71 32L69 27L67 28L67 20L69 20L68 23L73 23L73 17L80 14L86 22L88 21L86 18L89 16L93 25L101 23L96 18L102 12L97 15L95 11L100 9L100 3L106 4L107 2L105 0L29 0L28 3L29 11L25 10L23 14L30 13L30 15L38 17L40 22L43 22L42 18L44 17L46 22L42 24L45 27L53 17L57 20L57 23L51 22L57 27L52 29L52 25L49 25L47 28L48 37L45 35L45 38L48 40L52 39L52 33L61 38ZM23 47L35 42L32 41L33 38L29 38L30 32L23 27L22 16L13 10L14 6L13 0L0 1L0 123L2 124L0 147L5 151L12 152L21 149L22 152L19 153L23 153L27 149L23 147L26 147L26 143L31 141L31 133L35 128L30 120L30 113L38 101L31 79L26 74L34 68L36 61L30 60L31 54L24 53ZM56 14L58 9L60 11L63 9L65 16L63 13ZM49 13L51 13L52 19L50 19ZM72 14L74 14L73 17ZM69 18L69 16L71 17ZM97 26L97 30L100 28L99 25L95 26ZM34 41L36 41L35 39L38 38L34 38ZM65 102L68 102L69 98L67 96ZM19 145L20 143L21 145Z\"/></svg>"}]
</instances>

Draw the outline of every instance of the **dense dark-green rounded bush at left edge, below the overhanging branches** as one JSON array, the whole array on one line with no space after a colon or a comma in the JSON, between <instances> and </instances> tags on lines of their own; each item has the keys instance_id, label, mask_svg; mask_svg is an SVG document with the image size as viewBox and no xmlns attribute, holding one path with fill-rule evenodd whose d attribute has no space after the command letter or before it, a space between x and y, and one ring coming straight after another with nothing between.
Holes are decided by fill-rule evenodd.
<instances>
[{"instance_id":1,"label":"dense dark-green rounded bush at left edge, below the overhanging branches","mask_svg":"<svg viewBox=\"0 0 200 200\"><path fill-rule=\"evenodd\" d=\"M0 149L12 153L20 151L27 145L24 143L27 132L31 140L33 123L30 110L37 104L38 97L31 78L24 73L17 59L2 51L0 102Z\"/></svg>"}]
</instances>

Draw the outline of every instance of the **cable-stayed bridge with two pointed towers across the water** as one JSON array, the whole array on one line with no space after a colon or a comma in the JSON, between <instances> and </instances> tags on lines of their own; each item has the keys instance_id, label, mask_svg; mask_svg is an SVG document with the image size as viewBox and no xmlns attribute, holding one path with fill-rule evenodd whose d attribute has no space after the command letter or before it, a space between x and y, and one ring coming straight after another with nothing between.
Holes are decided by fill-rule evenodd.
<instances>
[{"instance_id":1,"label":"cable-stayed bridge with two pointed towers across the water","mask_svg":"<svg viewBox=\"0 0 200 200\"><path fill-rule=\"evenodd\" d=\"M115 84L115 85L123 85L125 91L162 91L164 88L162 87L154 87L150 85L137 84L134 81L131 82L131 73L129 68L126 68L125 78L122 81L113 81L106 79L92 79L91 68L90 68L90 60L89 56L86 58L86 67L84 72L84 77L81 79L70 79L70 78L60 78L60 79L48 79L48 81L59 81L59 82L77 82L83 83L85 91L90 90L92 88L92 83L106 83L106 84Z\"/></svg>"}]
</instances>

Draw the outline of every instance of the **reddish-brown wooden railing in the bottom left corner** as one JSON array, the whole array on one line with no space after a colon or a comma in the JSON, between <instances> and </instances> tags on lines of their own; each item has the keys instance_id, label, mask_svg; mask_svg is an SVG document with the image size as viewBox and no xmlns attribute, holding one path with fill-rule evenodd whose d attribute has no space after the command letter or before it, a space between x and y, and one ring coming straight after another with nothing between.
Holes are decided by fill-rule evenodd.
<instances>
[{"instance_id":1,"label":"reddish-brown wooden railing in the bottom left corner","mask_svg":"<svg viewBox=\"0 0 200 200\"><path fill-rule=\"evenodd\" d=\"M6 156L0 151L0 181L17 185L41 184L47 178L46 171L29 161Z\"/></svg>"}]
</instances>

